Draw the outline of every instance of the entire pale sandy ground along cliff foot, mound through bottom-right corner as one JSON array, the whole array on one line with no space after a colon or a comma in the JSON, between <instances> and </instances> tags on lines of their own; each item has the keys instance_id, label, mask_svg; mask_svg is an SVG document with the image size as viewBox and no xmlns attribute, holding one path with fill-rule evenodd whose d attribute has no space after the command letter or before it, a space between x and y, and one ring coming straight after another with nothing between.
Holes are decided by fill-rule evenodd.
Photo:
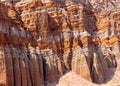
<instances>
[{"instance_id":1,"label":"entire pale sandy ground along cliff foot, mound through bottom-right corner","mask_svg":"<svg viewBox=\"0 0 120 86\"><path fill-rule=\"evenodd\" d=\"M113 71L113 69L111 69ZM93 84L79 75L73 72L68 72L62 76L59 83L56 86L120 86L120 73L115 72L114 74L110 72L111 76L108 76L105 84Z\"/></svg>"}]
</instances>

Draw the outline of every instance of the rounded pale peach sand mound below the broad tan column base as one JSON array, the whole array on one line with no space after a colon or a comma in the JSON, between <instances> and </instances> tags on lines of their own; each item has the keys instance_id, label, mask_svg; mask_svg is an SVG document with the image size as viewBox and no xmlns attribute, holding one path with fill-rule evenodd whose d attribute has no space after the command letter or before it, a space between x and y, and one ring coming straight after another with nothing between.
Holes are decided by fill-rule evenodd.
<instances>
[{"instance_id":1,"label":"rounded pale peach sand mound below the broad tan column base","mask_svg":"<svg viewBox=\"0 0 120 86\"><path fill-rule=\"evenodd\" d=\"M69 72L62 76L57 86L97 86L87 80L81 78L73 72Z\"/></svg>"}]
</instances>

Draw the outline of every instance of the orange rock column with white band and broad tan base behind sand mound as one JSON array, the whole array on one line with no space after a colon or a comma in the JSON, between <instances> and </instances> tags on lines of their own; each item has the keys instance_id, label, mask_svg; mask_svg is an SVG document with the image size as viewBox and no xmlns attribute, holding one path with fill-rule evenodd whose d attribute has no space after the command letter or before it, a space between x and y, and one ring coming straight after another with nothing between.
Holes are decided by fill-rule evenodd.
<instances>
[{"instance_id":1,"label":"orange rock column with white band and broad tan base behind sand mound","mask_svg":"<svg viewBox=\"0 0 120 86\"><path fill-rule=\"evenodd\" d=\"M90 50L90 44L89 44L91 42L90 40L91 37L87 28L88 22L86 18L87 13L84 11L85 9L86 8L84 6L79 5L79 7L77 8L77 12L79 16L76 18L71 17L72 18L71 21L73 21L71 25L73 27L74 36L77 39L77 40L74 40L77 42L77 46L74 45L74 48L73 48L75 50L73 51L72 71L76 72L83 78L89 81L92 81L91 68L90 68L92 50ZM78 21L78 26L75 21Z\"/></svg>"}]
</instances>

